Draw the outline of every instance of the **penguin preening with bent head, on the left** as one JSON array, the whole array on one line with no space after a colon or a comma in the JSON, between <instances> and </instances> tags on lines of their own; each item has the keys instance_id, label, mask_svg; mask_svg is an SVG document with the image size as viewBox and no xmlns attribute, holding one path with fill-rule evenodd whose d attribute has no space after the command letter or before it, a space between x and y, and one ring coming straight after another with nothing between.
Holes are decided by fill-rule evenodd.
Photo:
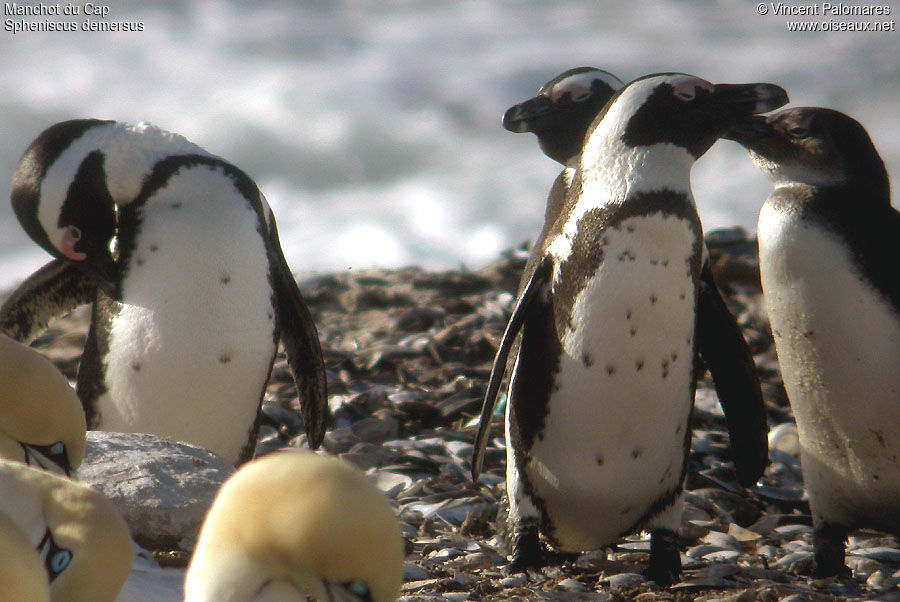
<instances>
[{"instance_id":1,"label":"penguin preening with bent head, on the left","mask_svg":"<svg viewBox=\"0 0 900 602\"><path fill-rule=\"evenodd\" d=\"M27 339L93 302L76 386L90 428L247 460L280 337L319 445L316 328L272 211L243 171L152 125L66 121L26 150L12 203L56 259L19 287L0 324Z\"/></svg>"}]
</instances>

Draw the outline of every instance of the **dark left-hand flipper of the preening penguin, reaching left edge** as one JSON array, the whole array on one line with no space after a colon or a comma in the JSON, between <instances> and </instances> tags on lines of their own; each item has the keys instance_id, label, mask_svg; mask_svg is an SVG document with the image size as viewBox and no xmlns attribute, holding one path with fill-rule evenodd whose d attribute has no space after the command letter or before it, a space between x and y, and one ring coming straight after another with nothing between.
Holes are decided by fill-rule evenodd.
<instances>
[{"instance_id":1,"label":"dark left-hand flipper of the preening penguin, reaching left edge","mask_svg":"<svg viewBox=\"0 0 900 602\"><path fill-rule=\"evenodd\" d=\"M25 279L0 307L0 332L34 340L54 318L91 303L97 286L75 264L54 259Z\"/></svg>"}]
</instances>

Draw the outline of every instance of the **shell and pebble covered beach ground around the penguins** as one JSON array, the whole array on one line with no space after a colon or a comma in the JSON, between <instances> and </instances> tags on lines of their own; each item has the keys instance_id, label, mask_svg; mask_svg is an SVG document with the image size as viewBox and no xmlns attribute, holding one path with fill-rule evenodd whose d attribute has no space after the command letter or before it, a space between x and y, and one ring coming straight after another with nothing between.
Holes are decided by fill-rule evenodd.
<instances>
[{"instance_id":1,"label":"shell and pebble covered beach ground around the penguins","mask_svg":"<svg viewBox=\"0 0 900 602\"><path fill-rule=\"evenodd\" d=\"M809 577L812 526L796 433L762 303L756 243L740 229L708 235L716 280L754 353L770 426L771 463L753 490L738 483L707 374L698 383L683 574L661 588L642 576L649 536L509 575L503 417L485 471L470 476L491 362L515 301L526 248L478 271L349 270L301 279L316 321L333 423L323 443L371 476L395 504L407 540L401 600L900 600L900 540L857 531L852 577ZM4 296L5 297L5 296ZM51 324L34 346L74 380L88 308ZM305 447L294 384L279 354L257 454ZM501 397L501 402L503 398ZM623 482L623 487L628 483ZM184 566L186 550L154 550Z\"/></svg>"}]
</instances>

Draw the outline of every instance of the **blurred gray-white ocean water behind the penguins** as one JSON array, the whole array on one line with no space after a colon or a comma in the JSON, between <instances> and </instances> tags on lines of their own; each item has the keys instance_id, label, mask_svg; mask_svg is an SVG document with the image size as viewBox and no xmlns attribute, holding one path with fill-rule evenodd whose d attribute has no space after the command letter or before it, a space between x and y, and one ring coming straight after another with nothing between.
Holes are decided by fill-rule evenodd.
<instances>
[{"instance_id":1,"label":"blurred gray-white ocean water behind the penguins","mask_svg":"<svg viewBox=\"0 0 900 602\"><path fill-rule=\"evenodd\" d=\"M150 121L256 180L295 271L477 268L536 236L559 170L500 116L578 65L626 81L682 71L777 83L795 106L861 121L900 178L900 34L791 32L776 5L760 15L745 0L122 0L103 18L73 18L139 32L13 33L10 20L67 18L7 14L0 183L52 123ZM698 162L693 186L707 230L755 230L769 190L727 141ZM0 287L47 259L0 200Z\"/></svg>"}]
</instances>

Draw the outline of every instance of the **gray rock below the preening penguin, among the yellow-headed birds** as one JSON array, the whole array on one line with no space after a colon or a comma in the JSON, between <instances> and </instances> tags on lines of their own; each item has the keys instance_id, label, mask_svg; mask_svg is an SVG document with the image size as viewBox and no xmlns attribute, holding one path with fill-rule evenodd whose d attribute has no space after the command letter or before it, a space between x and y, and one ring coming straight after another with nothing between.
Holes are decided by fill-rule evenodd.
<instances>
[{"instance_id":1,"label":"gray rock below the preening penguin, among the yellow-headed birds","mask_svg":"<svg viewBox=\"0 0 900 602\"><path fill-rule=\"evenodd\" d=\"M90 431L78 478L108 497L134 540L191 549L234 466L211 451L155 435Z\"/></svg>"}]
</instances>

